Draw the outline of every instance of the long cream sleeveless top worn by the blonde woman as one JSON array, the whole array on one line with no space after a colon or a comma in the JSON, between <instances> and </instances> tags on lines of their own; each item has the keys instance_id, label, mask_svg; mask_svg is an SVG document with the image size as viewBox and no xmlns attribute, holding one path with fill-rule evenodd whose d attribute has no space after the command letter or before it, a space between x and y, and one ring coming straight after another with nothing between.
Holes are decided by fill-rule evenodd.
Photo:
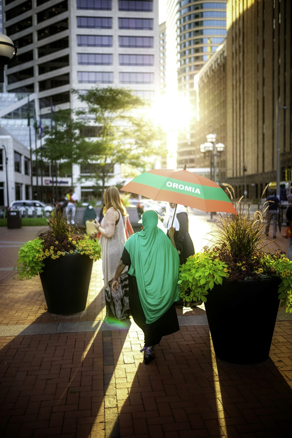
<instances>
[{"instance_id":1,"label":"long cream sleeveless top worn by the blonde woman","mask_svg":"<svg viewBox=\"0 0 292 438\"><path fill-rule=\"evenodd\" d=\"M124 245L126 243L126 221L127 217L122 216L120 210L119 222L115 226L113 237L101 235L99 244L102 248L102 272L105 281L105 289L109 290L109 281L113 279L116 273L117 265L122 257ZM106 214L102 220L102 228L106 227ZM127 272L127 267L122 273Z\"/></svg>"}]
</instances>

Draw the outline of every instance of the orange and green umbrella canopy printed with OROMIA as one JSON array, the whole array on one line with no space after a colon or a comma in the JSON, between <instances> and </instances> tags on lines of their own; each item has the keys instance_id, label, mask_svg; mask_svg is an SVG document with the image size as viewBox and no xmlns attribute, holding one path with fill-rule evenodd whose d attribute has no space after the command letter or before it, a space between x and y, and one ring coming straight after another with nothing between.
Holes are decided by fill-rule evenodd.
<instances>
[{"instance_id":1,"label":"orange and green umbrella canopy printed with OROMIA","mask_svg":"<svg viewBox=\"0 0 292 438\"><path fill-rule=\"evenodd\" d=\"M141 173L120 190L155 201L187 205L206 213L236 213L225 191L214 181L186 169L155 169Z\"/></svg>"}]
</instances>

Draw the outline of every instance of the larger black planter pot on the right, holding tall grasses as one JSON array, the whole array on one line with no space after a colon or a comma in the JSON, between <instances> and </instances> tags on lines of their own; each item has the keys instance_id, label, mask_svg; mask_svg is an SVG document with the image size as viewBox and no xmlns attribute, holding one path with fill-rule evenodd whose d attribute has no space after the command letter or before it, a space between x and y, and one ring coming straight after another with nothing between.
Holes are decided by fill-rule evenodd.
<instances>
[{"instance_id":1,"label":"larger black planter pot on the right, holding tall grasses","mask_svg":"<svg viewBox=\"0 0 292 438\"><path fill-rule=\"evenodd\" d=\"M257 364L269 357L279 299L277 277L261 282L223 279L205 303L215 354L233 364Z\"/></svg>"}]
</instances>

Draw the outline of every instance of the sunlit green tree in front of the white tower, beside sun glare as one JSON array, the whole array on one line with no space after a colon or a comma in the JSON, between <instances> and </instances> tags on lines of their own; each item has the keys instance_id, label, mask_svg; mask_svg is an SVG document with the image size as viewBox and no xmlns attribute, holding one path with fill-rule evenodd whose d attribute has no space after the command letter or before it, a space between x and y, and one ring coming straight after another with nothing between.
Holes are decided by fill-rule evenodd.
<instances>
[{"instance_id":1,"label":"sunlit green tree in front of the white tower, beside sun glare","mask_svg":"<svg viewBox=\"0 0 292 438\"><path fill-rule=\"evenodd\" d=\"M146 102L125 88L91 88L87 92L73 90L87 109L84 114L94 116L98 126L86 162L92 165L91 179L106 186L114 164L127 164L143 171L149 160L165 156L166 136L161 127L145 117Z\"/></svg>"}]
</instances>

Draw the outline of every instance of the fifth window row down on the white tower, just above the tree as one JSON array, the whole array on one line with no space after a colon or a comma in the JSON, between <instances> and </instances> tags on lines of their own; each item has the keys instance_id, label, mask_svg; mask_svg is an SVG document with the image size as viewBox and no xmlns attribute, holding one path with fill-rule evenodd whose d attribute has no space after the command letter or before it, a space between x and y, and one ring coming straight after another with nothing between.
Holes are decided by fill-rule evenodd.
<instances>
[{"instance_id":1,"label":"fifth window row down on the white tower, just above the tree","mask_svg":"<svg viewBox=\"0 0 292 438\"><path fill-rule=\"evenodd\" d=\"M153 84L154 73L120 72L120 84ZM112 84L111 71L78 71L79 84Z\"/></svg>"}]
</instances>

